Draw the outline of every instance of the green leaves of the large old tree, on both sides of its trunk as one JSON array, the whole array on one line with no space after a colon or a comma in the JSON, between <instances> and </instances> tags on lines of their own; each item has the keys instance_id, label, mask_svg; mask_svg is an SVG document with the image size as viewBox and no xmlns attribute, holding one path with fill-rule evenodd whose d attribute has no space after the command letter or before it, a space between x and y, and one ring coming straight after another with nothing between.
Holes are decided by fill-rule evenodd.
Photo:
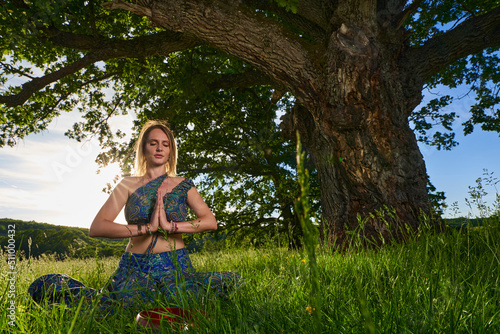
<instances>
[{"instance_id":1,"label":"green leaves of the large old tree, on both sides of its trunk","mask_svg":"<svg viewBox=\"0 0 500 334\"><path fill-rule=\"evenodd\" d=\"M297 0L272 2L296 15ZM100 0L88 2L36 0L28 3L5 1L0 9L2 36L0 81L6 85L4 94L18 92L19 84L26 80L64 69L85 55L85 52L81 51L81 45L75 45L75 48L63 48L51 42L49 37L56 32L56 29L78 36L88 36L89 39L85 41L89 45L87 56L93 54L90 50L95 47L96 38L100 39L102 45L106 45L107 42L115 40L159 33L147 19L127 11L110 13L103 9L102 3ZM444 31L474 16L487 13L497 6L498 2L493 0L422 1L405 23L411 45L421 46ZM258 8L255 10L259 11ZM272 10L269 8L268 11ZM272 12L269 14L279 15ZM297 29L292 27L288 20L282 23L291 30ZM304 33L297 32L297 34ZM480 125L485 131L498 132L500 129L500 114L495 109L499 103L500 78L497 51L498 48L490 48L460 59L443 68L427 83L431 89L437 85L451 88L461 85L470 87L477 103L471 108L471 117L462 122L466 134L471 133L475 125ZM212 53L214 55L212 58L217 58L218 61L215 64L209 61L205 66L199 61L196 66L192 66L190 60L196 60L196 57L185 57L184 53L180 53L180 57L176 53L167 58L119 58L90 62L77 73L65 76L40 89L22 107L2 106L0 146L14 145L17 139L29 133L43 131L62 112L76 108L84 115L84 121L76 124L68 135L81 140L89 133L95 133L104 147L112 148L114 136L120 138L123 134L111 133L107 120L113 115L128 113L132 109L138 110L139 114L147 108L158 110L161 103L154 101L168 96L162 94L162 90L172 76L179 76L174 80L184 81L183 96L186 98L184 101L190 101L193 95L202 99L207 89L214 89L206 83L220 78L220 74L225 73L224 70L221 71L224 64L232 64L234 59L213 50L209 53ZM171 63L177 64L174 65L178 67L177 71L169 71ZM240 66L240 71L233 73L241 73L242 69L249 69L249 66ZM19 79L13 81L12 78ZM135 84L134 80L142 83ZM110 94L111 89L116 91L116 94ZM432 100L428 106L414 112L412 120L416 122L416 130L420 133L421 141L435 145L438 149L450 149L456 145L453 130L450 129L456 118L455 113L440 115L442 109L451 102L452 98L445 96ZM189 103L180 107L186 110ZM139 119L143 119L141 115ZM439 125L444 126L446 132L431 130ZM428 132L434 133L429 135Z\"/></svg>"}]
</instances>

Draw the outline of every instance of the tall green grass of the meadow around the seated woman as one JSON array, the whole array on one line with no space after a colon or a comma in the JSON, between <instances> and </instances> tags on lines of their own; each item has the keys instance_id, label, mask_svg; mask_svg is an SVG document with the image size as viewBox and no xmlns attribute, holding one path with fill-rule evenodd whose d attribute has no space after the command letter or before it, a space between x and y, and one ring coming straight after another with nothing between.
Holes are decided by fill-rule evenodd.
<instances>
[{"instance_id":1,"label":"tall green grass of the meadow around the seated woman","mask_svg":"<svg viewBox=\"0 0 500 334\"><path fill-rule=\"evenodd\" d=\"M306 252L269 245L192 255L199 271L235 270L245 285L228 300L197 306L209 316L196 333L494 333L500 332L500 222L444 233L422 230L402 245L345 254L317 248L321 323L308 308ZM16 326L8 318L7 254L1 255L0 329L12 333L144 333L133 315L99 317L90 306L30 309L26 291L47 273L102 287L118 258L51 257L16 263ZM311 314L313 313L313 314ZM163 328L163 332L172 330Z\"/></svg>"}]
</instances>

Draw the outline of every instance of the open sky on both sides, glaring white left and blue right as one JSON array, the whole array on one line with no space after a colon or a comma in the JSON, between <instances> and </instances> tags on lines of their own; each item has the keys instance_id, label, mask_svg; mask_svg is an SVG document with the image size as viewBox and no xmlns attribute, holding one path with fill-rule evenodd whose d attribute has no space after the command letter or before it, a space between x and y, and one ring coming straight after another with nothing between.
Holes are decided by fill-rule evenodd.
<instances>
[{"instance_id":1,"label":"open sky on both sides, glaring white left and blue right","mask_svg":"<svg viewBox=\"0 0 500 334\"><path fill-rule=\"evenodd\" d=\"M452 108L465 116L469 103L462 99ZM102 189L119 169L111 165L96 174L97 140L78 143L64 136L78 119L77 112L63 114L47 131L29 135L15 147L0 148L0 218L90 227L108 197ZM420 148L431 182L445 192L446 203L458 202L459 215L475 216L477 211L467 207L465 198L470 197L469 186L476 186L483 169L500 178L500 137L480 129L464 137L459 126L463 121L456 122L460 144L451 151L425 145ZM112 129L130 133L132 122L133 116L126 115L112 118L110 124ZM495 189L486 191L489 194L485 200L492 203ZM451 209L445 213L447 217L457 216ZM125 223L123 212L116 221Z\"/></svg>"}]
</instances>

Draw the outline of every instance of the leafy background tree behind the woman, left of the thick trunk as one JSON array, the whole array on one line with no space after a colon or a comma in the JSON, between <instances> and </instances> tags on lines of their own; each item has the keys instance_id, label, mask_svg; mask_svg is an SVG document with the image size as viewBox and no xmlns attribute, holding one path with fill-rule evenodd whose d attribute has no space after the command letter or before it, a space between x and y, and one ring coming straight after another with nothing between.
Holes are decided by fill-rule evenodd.
<instances>
[{"instance_id":1,"label":"leafy background tree behind the woman, left of the thick trunk","mask_svg":"<svg viewBox=\"0 0 500 334\"><path fill-rule=\"evenodd\" d=\"M155 66L155 71L141 71L146 82L137 76L127 80L140 92L151 86L157 92L154 105L141 113L137 125L142 126L142 119L169 120L181 152L178 172L203 181L197 187L214 211L220 233L230 233L233 241L244 238L256 243L284 234L288 238L280 240L288 239L296 247L301 236L293 205L299 193L296 145L281 138L276 122L276 113L290 108L290 99L276 103L267 86L215 91L204 87L214 80L201 74L208 67L220 73L223 69L235 72L242 66L240 61L228 61L220 52L200 47L170 57L168 63ZM169 73L161 79L161 88L148 82L155 72ZM150 93L145 94L144 99L151 99ZM72 134L82 132L77 128ZM104 165L131 156L135 140L113 145L101 153L99 161ZM125 162L122 169L130 170L132 161ZM316 180L312 181L311 200L318 210Z\"/></svg>"}]
</instances>

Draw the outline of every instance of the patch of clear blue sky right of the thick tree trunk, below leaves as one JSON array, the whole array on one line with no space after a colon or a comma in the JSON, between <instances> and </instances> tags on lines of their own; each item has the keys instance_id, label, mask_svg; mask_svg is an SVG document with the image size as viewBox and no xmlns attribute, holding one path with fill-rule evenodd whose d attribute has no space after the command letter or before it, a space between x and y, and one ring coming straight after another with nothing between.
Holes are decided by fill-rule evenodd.
<instances>
[{"instance_id":1,"label":"patch of clear blue sky right of the thick tree trunk, below leaves","mask_svg":"<svg viewBox=\"0 0 500 334\"><path fill-rule=\"evenodd\" d=\"M434 147L419 145L424 157L427 174L437 191L444 191L446 203L451 206L458 202L460 216L476 217L479 212L475 207L468 207L465 199L470 199L469 187L477 186L476 180L484 177L484 171L493 173L493 177L500 179L500 136L496 132L486 132L480 126L475 126L473 133L464 136L461 125L469 118L469 109L475 103L474 96L468 94L467 87L449 89L437 87L431 91L423 91L424 98L421 106L430 99L439 98L445 94L454 96L453 103L445 108L447 112L455 112L453 130L458 146L450 151L438 151ZM483 182L484 185L484 182ZM500 190L500 184L497 185ZM490 206L495 201L497 190L487 186L488 195L484 200ZM455 217L451 208L445 212L446 217Z\"/></svg>"}]
</instances>

